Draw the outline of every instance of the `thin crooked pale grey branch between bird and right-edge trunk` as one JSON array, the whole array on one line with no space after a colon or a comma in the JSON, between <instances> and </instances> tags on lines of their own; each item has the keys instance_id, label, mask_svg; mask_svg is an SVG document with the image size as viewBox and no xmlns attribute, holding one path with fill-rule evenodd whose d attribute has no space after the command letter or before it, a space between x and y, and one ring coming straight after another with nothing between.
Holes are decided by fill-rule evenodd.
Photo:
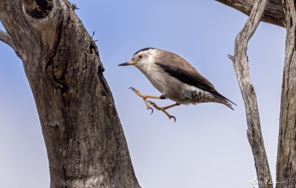
<instances>
[{"instance_id":1,"label":"thin crooked pale grey branch between bird and right-edge trunk","mask_svg":"<svg viewBox=\"0 0 296 188\"><path fill-rule=\"evenodd\" d=\"M232 59L233 67L239 82L239 88L244 99L248 125L247 137L252 148L258 181L264 182L263 184L259 183L259 187L272 188L272 184L266 184L264 181L265 177L271 179L271 174L261 134L257 99L250 80L247 57L248 41L254 34L260 22L267 1L268 0L255 1L250 17L235 39L234 56L228 56Z\"/></svg>"}]
</instances>

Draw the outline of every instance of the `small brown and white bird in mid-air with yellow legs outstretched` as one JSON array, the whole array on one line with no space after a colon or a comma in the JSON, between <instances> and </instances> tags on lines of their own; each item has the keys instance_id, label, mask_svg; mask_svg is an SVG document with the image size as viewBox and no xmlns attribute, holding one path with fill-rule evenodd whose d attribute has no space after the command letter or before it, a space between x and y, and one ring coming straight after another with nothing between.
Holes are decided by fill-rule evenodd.
<instances>
[{"instance_id":1,"label":"small brown and white bird in mid-air with yellow legs outstretched","mask_svg":"<svg viewBox=\"0 0 296 188\"><path fill-rule=\"evenodd\" d=\"M162 95L159 97L142 95L132 87L129 89L143 97L147 109L152 109L150 107L152 105L156 109L163 111L169 119L174 118L175 122L176 118L169 115L165 110L181 104L216 102L225 104L233 109L230 104L234 104L233 102L218 93L215 87L200 75L190 63L175 53L157 48L144 48L137 51L131 58L131 61L121 63L118 66L128 65L138 68ZM147 101L147 98L170 99L176 102L176 104L158 107L155 103Z\"/></svg>"}]
</instances>

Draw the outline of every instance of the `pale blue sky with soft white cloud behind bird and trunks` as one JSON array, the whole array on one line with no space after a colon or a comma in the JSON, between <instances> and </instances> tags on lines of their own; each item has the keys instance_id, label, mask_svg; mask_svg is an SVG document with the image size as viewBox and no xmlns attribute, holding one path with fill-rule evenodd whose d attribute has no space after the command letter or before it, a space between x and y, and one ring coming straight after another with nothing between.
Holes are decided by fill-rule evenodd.
<instances>
[{"instance_id":1,"label":"pale blue sky with soft white cloud behind bird and trunks","mask_svg":"<svg viewBox=\"0 0 296 188\"><path fill-rule=\"evenodd\" d=\"M105 68L132 164L143 188L242 187L256 177L247 140L244 102L232 62L234 40L247 16L213 0L71 1L92 35ZM3 30L3 26L0 28ZM286 30L261 22L249 41L250 77L272 178L275 178ZM117 66L147 47L191 63L219 93L236 103L145 107L129 87L160 96L133 66ZM0 42L0 187L48 188L49 169L36 105L22 62ZM152 100L158 106L170 100ZM13 183L12 183L13 182Z\"/></svg>"}]
</instances>

